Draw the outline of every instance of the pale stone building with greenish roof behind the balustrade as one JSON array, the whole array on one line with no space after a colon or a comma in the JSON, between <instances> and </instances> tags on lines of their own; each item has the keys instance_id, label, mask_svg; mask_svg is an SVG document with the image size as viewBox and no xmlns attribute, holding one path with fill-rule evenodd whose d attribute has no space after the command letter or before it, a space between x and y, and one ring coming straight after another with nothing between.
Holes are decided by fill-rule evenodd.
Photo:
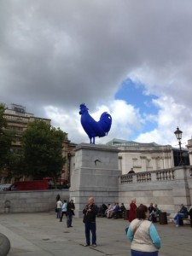
<instances>
[{"instance_id":1,"label":"pale stone building with greenish roof behind the balustrade","mask_svg":"<svg viewBox=\"0 0 192 256\"><path fill-rule=\"evenodd\" d=\"M119 149L119 170L122 174L133 172L148 172L178 166L180 152L171 145L157 143L137 143L114 138L107 143ZM188 149L182 148L184 165L189 166Z\"/></svg>"}]
</instances>

